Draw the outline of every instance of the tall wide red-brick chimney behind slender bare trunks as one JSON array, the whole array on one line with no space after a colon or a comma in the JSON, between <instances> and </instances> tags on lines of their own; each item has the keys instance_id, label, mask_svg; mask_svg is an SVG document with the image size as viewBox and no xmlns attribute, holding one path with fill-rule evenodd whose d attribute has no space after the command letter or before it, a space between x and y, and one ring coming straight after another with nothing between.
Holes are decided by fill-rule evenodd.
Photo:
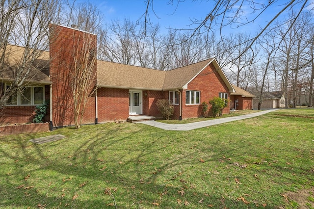
<instances>
[{"instance_id":1,"label":"tall wide red-brick chimney behind slender bare trunks","mask_svg":"<svg viewBox=\"0 0 314 209\"><path fill-rule=\"evenodd\" d=\"M91 46L96 54L96 35L64 26L51 25L53 28L50 44L50 75L52 79L52 123L54 127L74 125L74 100L72 83L75 67L74 55ZM94 74L96 75L96 63ZM70 72L72 74L70 74ZM76 79L77 80L77 79ZM96 78L86 92L91 92ZM94 123L96 118L95 97L90 97L86 105L82 124Z\"/></svg>"}]
</instances>

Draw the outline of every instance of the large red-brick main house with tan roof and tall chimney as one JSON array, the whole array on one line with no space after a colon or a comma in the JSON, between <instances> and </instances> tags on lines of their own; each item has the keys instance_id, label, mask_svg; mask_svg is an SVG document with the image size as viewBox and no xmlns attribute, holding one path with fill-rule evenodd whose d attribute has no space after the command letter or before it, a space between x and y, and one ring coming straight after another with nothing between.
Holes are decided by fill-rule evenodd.
<instances>
[{"instance_id":1,"label":"large red-brick main house with tan roof and tall chimney","mask_svg":"<svg viewBox=\"0 0 314 209\"><path fill-rule=\"evenodd\" d=\"M45 64L45 70L34 68L26 83L27 102L18 93L17 99L12 99L4 108L2 125L31 122L35 105L47 99L50 105L46 120L52 127L74 124L71 75L67 69L71 65L71 50L75 44L73 34L77 37L86 32L66 26L57 26L57 29L50 52L44 52L41 62L38 61L40 67ZM96 41L96 35L91 35ZM12 47L15 51L23 50ZM208 103L218 96L230 99L230 94L235 92L214 58L170 71L97 60L94 70L97 73L96 91L88 100L83 124L126 121L130 115L159 117L158 99L168 99L175 105L173 119L201 117L202 102ZM7 78L0 75L0 78L4 90L5 83L12 81L14 75ZM229 109L228 105L224 113L229 113Z\"/></svg>"}]
</instances>

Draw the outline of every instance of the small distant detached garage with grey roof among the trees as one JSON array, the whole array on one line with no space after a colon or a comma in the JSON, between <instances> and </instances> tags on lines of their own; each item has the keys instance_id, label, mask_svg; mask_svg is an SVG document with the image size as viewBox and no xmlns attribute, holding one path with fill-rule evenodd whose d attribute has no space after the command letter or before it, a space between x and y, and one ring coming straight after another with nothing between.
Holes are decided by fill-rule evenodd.
<instances>
[{"instance_id":1,"label":"small distant detached garage with grey roof among the trees","mask_svg":"<svg viewBox=\"0 0 314 209\"><path fill-rule=\"evenodd\" d=\"M282 108L286 107L285 95L283 91L270 91L264 92L263 101L261 104L262 109L267 108ZM258 98L253 99L253 108L257 109L259 104Z\"/></svg>"}]
</instances>

